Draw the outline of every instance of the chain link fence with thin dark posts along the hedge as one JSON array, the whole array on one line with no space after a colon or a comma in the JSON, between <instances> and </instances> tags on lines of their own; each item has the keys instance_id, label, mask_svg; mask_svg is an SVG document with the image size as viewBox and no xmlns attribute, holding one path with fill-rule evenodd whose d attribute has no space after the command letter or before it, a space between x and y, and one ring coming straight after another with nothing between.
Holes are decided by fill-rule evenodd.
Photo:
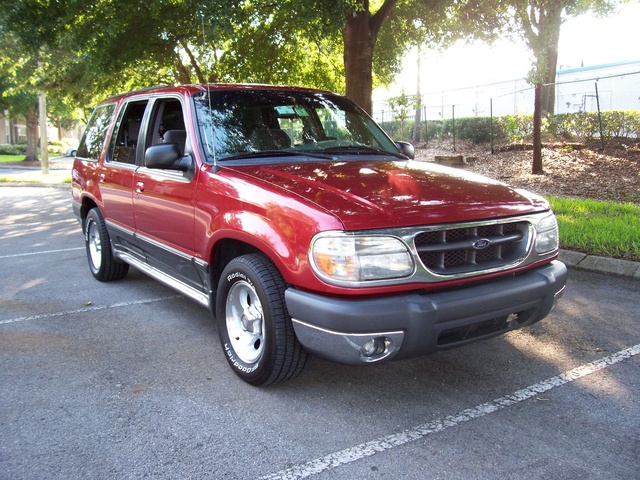
<instances>
[{"instance_id":1,"label":"chain link fence with thin dark posts along the hedge","mask_svg":"<svg viewBox=\"0 0 640 480\"><path fill-rule=\"evenodd\" d=\"M396 140L453 151L464 142L492 149L530 144L534 93L524 80L493 83L425 95L419 112L414 100L404 110L387 107L373 116ZM556 83L543 87L542 98L543 142L593 142L604 150L613 139L640 138L640 61L561 71Z\"/></svg>"}]
</instances>

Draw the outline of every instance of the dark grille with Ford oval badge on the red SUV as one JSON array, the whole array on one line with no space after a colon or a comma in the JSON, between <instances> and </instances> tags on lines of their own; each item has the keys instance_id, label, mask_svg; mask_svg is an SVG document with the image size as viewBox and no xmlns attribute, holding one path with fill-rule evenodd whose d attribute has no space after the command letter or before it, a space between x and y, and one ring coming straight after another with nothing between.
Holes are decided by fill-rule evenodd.
<instances>
[{"instance_id":1,"label":"dark grille with Ford oval badge on the red SUV","mask_svg":"<svg viewBox=\"0 0 640 480\"><path fill-rule=\"evenodd\" d=\"M415 247L427 270L441 275L500 268L525 255L530 224L511 222L422 232Z\"/></svg>"}]
</instances>

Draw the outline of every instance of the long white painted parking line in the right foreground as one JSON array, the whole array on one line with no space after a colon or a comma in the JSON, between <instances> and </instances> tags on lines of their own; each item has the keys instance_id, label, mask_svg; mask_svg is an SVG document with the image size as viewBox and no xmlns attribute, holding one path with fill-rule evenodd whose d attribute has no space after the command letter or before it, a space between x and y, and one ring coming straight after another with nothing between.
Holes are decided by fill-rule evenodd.
<instances>
[{"instance_id":1,"label":"long white painted parking line in the right foreground","mask_svg":"<svg viewBox=\"0 0 640 480\"><path fill-rule=\"evenodd\" d=\"M417 427L404 430L399 433L388 435L386 437L373 440L371 442L361 443L355 447L346 448L316 460L311 460L301 465L296 465L286 470L261 477L260 480L293 480L307 478L318 473L337 468L341 465L361 460L366 457L375 455L376 453L391 450L395 447L405 445L415 440L431 435L432 433L441 432L452 427L456 427L462 423L484 417L490 413L497 412L503 408L516 405L524 400L540 395L553 388L560 387L567 383L574 382L580 378L591 375L603 368L607 368L616 363L627 360L640 353L640 344L621 350L617 353L596 360L586 365L581 365L572 370L568 370L555 377L548 378L542 382L531 385L522 390L518 390L512 394L497 398L487 403L482 403L476 407L463 410L459 413L449 415L440 420L419 425Z\"/></svg>"}]
</instances>

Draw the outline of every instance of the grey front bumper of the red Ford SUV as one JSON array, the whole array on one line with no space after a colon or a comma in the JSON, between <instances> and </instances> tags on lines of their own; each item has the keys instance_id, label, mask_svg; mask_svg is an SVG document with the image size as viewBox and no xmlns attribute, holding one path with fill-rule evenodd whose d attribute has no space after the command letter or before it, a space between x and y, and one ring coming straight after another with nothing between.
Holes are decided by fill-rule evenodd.
<instances>
[{"instance_id":1,"label":"grey front bumper of the red Ford SUV","mask_svg":"<svg viewBox=\"0 0 640 480\"><path fill-rule=\"evenodd\" d=\"M289 288L285 299L307 350L361 364L424 355L531 325L551 311L566 280L567 268L554 261L514 277L435 293L349 300Z\"/></svg>"}]
</instances>

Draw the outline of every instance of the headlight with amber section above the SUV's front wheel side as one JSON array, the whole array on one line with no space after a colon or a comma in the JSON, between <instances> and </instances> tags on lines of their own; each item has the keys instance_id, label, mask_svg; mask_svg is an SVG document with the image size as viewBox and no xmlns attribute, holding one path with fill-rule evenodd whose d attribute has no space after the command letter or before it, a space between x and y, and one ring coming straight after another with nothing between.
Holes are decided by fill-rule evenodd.
<instances>
[{"instance_id":1,"label":"headlight with amber section above the SUV's front wheel side","mask_svg":"<svg viewBox=\"0 0 640 480\"><path fill-rule=\"evenodd\" d=\"M395 237L322 234L311 245L316 272L335 283L401 278L413 273L407 246Z\"/></svg>"}]
</instances>

